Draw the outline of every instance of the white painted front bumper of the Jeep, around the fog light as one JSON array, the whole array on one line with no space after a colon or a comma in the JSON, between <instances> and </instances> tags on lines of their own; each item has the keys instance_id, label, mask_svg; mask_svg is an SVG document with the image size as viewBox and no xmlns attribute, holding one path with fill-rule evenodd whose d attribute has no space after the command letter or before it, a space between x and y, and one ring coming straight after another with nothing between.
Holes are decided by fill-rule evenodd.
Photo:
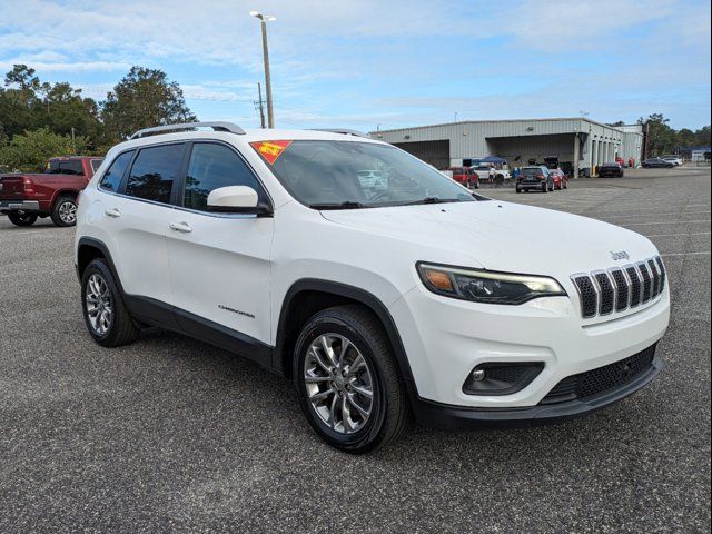
<instances>
[{"instance_id":1,"label":"white painted front bumper of the Jeep, around the fog light","mask_svg":"<svg viewBox=\"0 0 712 534\"><path fill-rule=\"evenodd\" d=\"M416 400L465 412L484 409L491 419L511 418L507 411L516 415L526 408L532 411L530 415L517 417L538 414L538 418L566 409L589 409L589 400L570 408L561 404L537 406L564 378L623 360L655 345L668 328L670 293L665 287L644 307L596 320L582 319L578 306L568 297L502 306L441 297L424 286L413 288L389 310L407 354ZM472 370L493 363L536 363L544 364L544 368L512 394L465 393L463 385Z\"/></svg>"}]
</instances>

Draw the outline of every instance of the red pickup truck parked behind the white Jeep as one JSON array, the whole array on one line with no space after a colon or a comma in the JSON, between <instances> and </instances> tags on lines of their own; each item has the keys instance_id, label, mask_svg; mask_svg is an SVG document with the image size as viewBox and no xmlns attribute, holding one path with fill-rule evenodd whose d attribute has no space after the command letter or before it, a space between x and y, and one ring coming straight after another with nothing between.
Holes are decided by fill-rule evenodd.
<instances>
[{"instance_id":1,"label":"red pickup truck parked behind the white Jeep","mask_svg":"<svg viewBox=\"0 0 712 534\"><path fill-rule=\"evenodd\" d=\"M0 175L0 212L17 226L51 217L57 226L75 226L77 197L103 158L71 156L51 158L42 174Z\"/></svg>"}]
</instances>

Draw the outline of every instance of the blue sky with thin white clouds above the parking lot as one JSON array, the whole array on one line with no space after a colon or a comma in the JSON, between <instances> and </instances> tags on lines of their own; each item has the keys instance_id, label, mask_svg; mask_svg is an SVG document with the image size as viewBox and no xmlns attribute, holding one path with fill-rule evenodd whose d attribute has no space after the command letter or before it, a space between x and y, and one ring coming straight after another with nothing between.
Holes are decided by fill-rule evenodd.
<instances>
[{"instance_id":1,"label":"blue sky with thin white clouds above the parking lot","mask_svg":"<svg viewBox=\"0 0 712 534\"><path fill-rule=\"evenodd\" d=\"M269 23L277 127L360 130L589 117L710 123L710 2L694 0L0 0L0 68L96 99L131 65L201 120L258 125L253 9Z\"/></svg>"}]
</instances>

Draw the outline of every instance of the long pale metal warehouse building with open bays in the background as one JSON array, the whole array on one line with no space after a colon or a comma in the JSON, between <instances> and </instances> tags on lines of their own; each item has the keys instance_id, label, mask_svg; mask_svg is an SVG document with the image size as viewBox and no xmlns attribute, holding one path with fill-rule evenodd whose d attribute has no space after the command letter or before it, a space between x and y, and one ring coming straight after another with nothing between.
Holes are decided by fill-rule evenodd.
<instances>
[{"instance_id":1,"label":"long pale metal warehouse building with open bays in the background","mask_svg":"<svg viewBox=\"0 0 712 534\"><path fill-rule=\"evenodd\" d=\"M463 165L463 159L500 156L511 167L543 162L557 157L571 164L577 175L615 156L637 164L643 151L643 127L613 127L585 118L482 120L421 126L370 132L428 164L445 169Z\"/></svg>"}]
</instances>

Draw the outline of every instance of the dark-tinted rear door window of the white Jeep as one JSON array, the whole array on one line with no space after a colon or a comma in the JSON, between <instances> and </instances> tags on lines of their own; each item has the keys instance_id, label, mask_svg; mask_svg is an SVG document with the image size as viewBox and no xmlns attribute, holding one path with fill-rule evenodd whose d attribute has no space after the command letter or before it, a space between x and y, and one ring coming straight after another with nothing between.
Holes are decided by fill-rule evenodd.
<instances>
[{"instance_id":1,"label":"dark-tinted rear door window of the white Jeep","mask_svg":"<svg viewBox=\"0 0 712 534\"><path fill-rule=\"evenodd\" d=\"M126 194L156 202L170 202L170 191L180 168L182 147L164 145L141 149L129 172Z\"/></svg>"}]
</instances>

